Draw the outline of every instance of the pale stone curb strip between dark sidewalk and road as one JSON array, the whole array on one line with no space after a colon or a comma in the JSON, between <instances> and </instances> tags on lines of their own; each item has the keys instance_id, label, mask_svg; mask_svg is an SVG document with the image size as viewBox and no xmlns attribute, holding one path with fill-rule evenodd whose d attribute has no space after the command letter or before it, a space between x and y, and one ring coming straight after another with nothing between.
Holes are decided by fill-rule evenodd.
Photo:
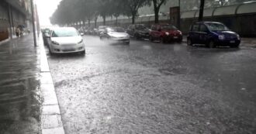
<instances>
[{"instance_id":1,"label":"pale stone curb strip between dark sidewalk and road","mask_svg":"<svg viewBox=\"0 0 256 134\"><path fill-rule=\"evenodd\" d=\"M40 40L42 42L42 40ZM61 111L54 82L50 74L47 53L40 42L40 89L43 93L43 110L41 112L42 134L64 134Z\"/></svg>"}]
</instances>

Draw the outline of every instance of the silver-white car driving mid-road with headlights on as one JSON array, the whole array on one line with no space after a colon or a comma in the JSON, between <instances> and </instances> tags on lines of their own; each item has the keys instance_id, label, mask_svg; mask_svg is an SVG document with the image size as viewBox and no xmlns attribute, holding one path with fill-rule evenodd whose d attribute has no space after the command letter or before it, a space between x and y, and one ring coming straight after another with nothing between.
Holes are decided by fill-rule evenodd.
<instances>
[{"instance_id":1,"label":"silver-white car driving mid-road with headlights on","mask_svg":"<svg viewBox=\"0 0 256 134\"><path fill-rule=\"evenodd\" d=\"M114 43L130 44L130 36L121 27L108 27L100 33L99 38L101 40L112 40Z\"/></svg>"}]
</instances>

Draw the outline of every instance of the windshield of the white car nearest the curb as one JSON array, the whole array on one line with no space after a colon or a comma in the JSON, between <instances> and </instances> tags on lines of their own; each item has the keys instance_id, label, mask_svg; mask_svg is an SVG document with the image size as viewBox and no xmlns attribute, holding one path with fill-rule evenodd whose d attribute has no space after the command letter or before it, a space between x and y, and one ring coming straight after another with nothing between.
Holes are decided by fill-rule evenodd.
<instances>
[{"instance_id":1,"label":"windshield of the white car nearest the curb","mask_svg":"<svg viewBox=\"0 0 256 134\"><path fill-rule=\"evenodd\" d=\"M52 37L79 36L76 29L54 29Z\"/></svg>"}]
</instances>

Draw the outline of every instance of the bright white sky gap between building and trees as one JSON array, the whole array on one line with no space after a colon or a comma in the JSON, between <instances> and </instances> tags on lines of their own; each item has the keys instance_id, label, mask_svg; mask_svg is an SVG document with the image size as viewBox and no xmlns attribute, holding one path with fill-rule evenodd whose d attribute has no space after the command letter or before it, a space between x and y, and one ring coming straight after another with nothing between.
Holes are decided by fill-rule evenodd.
<instances>
[{"instance_id":1,"label":"bright white sky gap between building and trees","mask_svg":"<svg viewBox=\"0 0 256 134\"><path fill-rule=\"evenodd\" d=\"M50 16L57 9L61 0L35 0L40 19L40 26L51 26Z\"/></svg>"}]
</instances>

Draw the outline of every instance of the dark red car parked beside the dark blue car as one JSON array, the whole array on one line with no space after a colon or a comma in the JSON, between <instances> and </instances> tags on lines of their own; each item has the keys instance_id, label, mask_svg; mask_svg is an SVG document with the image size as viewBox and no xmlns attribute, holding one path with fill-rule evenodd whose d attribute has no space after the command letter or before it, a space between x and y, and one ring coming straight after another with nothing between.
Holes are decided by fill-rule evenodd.
<instances>
[{"instance_id":1,"label":"dark red car parked beside the dark blue car","mask_svg":"<svg viewBox=\"0 0 256 134\"><path fill-rule=\"evenodd\" d=\"M169 24L157 24L151 26L150 41L160 40L161 43L182 43L182 32Z\"/></svg>"}]
</instances>

